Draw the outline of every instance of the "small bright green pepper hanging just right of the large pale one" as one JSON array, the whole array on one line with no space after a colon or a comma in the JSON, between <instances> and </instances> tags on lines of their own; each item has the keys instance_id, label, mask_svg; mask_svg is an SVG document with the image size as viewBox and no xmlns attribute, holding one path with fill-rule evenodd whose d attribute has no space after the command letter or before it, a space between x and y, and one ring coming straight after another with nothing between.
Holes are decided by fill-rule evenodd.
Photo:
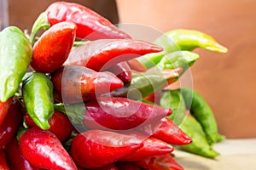
<instances>
[{"instance_id":1,"label":"small bright green pepper hanging just right of the large pale one","mask_svg":"<svg viewBox=\"0 0 256 170\"><path fill-rule=\"evenodd\" d=\"M49 119L53 115L53 84L44 73L33 72L22 85L26 110L32 120L42 129L49 129Z\"/></svg>"}]
</instances>

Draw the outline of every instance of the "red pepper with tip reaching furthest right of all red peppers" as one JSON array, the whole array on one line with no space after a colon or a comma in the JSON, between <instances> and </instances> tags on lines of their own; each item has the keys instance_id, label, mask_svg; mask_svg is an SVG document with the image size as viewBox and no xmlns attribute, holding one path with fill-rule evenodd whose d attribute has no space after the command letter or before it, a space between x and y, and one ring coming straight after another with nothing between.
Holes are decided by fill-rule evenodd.
<instances>
[{"instance_id":1,"label":"red pepper with tip reaching furthest right of all red peppers","mask_svg":"<svg viewBox=\"0 0 256 170\"><path fill-rule=\"evenodd\" d=\"M140 130L168 144L184 145L192 142L192 139L167 117L162 118L157 126L146 125Z\"/></svg>"}]
</instances>

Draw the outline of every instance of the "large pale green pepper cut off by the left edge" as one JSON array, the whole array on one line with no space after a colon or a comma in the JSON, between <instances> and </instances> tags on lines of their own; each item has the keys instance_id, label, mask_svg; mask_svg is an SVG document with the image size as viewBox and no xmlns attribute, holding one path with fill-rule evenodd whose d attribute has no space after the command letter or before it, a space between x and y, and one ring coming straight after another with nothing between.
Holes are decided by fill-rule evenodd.
<instances>
[{"instance_id":1,"label":"large pale green pepper cut off by the left edge","mask_svg":"<svg viewBox=\"0 0 256 170\"><path fill-rule=\"evenodd\" d=\"M15 26L0 32L0 100L7 101L17 92L32 59L32 45Z\"/></svg>"}]
</instances>

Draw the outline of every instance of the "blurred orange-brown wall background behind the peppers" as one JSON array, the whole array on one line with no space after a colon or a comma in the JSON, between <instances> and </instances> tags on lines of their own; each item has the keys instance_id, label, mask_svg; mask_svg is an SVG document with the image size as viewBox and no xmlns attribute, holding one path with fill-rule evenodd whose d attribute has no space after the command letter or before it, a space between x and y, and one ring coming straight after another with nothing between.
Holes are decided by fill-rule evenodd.
<instances>
[{"instance_id":1,"label":"blurred orange-brown wall background behind the peppers","mask_svg":"<svg viewBox=\"0 0 256 170\"><path fill-rule=\"evenodd\" d=\"M1 5L3 1L7 0L0 0ZM9 26L30 30L38 15L53 2L9 0ZM201 59L191 69L194 88L212 107L220 133L228 138L256 137L255 0L69 2L92 8L113 24L137 23L163 32L177 28L193 29L214 37L229 48L229 52L217 54L195 50Z\"/></svg>"}]
</instances>

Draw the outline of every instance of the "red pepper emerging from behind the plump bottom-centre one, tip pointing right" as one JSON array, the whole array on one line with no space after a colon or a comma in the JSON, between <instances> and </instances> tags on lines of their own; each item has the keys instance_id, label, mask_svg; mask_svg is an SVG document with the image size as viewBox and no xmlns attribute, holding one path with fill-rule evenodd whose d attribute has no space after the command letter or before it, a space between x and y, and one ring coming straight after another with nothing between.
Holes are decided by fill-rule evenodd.
<instances>
[{"instance_id":1,"label":"red pepper emerging from behind the plump bottom-centre one, tip pointing right","mask_svg":"<svg viewBox=\"0 0 256 170\"><path fill-rule=\"evenodd\" d=\"M144 136L141 133L130 133L130 135L144 139L143 147L132 153L131 155L125 156L120 161L138 161L151 156L160 156L171 153L174 150L171 144L167 144L160 139L155 139L154 137L147 138L147 136Z\"/></svg>"}]
</instances>

